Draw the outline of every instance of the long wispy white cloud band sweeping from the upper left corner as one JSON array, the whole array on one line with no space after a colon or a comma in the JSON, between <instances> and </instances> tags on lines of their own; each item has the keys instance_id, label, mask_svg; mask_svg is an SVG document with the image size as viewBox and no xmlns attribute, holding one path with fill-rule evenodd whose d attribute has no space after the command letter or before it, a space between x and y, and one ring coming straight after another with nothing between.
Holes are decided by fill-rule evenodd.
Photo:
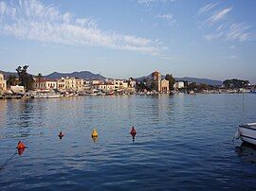
<instances>
[{"instance_id":1,"label":"long wispy white cloud band sweeping from the upper left corner","mask_svg":"<svg viewBox=\"0 0 256 191\"><path fill-rule=\"evenodd\" d=\"M151 55L161 51L154 40L102 31L93 19L74 18L38 0L0 2L0 32L43 43L89 44Z\"/></svg>"}]
</instances>

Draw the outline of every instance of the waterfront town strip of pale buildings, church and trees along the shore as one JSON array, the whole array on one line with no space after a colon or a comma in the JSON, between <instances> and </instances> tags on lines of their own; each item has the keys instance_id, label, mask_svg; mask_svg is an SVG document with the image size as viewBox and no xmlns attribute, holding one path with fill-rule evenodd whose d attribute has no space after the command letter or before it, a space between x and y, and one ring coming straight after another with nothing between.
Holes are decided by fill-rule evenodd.
<instances>
[{"instance_id":1,"label":"waterfront town strip of pale buildings, church and trees along the shore","mask_svg":"<svg viewBox=\"0 0 256 191\"><path fill-rule=\"evenodd\" d=\"M27 67L19 66L18 77L5 78L0 73L0 98L57 98L61 96L114 96L114 95L156 95L175 93L244 93L255 92L255 86L247 80L231 79L224 81L221 87L181 81L155 71L148 78L44 78L41 74L32 77ZM236 85L232 87L232 85Z\"/></svg>"}]
</instances>

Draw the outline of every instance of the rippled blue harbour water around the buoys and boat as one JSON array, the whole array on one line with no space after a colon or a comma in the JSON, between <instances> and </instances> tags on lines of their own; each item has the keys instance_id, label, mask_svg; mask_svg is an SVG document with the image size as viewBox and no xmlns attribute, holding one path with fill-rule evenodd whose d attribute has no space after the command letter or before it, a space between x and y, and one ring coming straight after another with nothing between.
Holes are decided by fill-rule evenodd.
<instances>
[{"instance_id":1,"label":"rippled blue harbour water around the buoys and boat","mask_svg":"<svg viewBox=\"0 0 256 191\"><path fill-rule=\"evenodd\" d=\"M0 190L255 190L247 122L253 94L0 100Z\"/></svg>"}]
</instances>

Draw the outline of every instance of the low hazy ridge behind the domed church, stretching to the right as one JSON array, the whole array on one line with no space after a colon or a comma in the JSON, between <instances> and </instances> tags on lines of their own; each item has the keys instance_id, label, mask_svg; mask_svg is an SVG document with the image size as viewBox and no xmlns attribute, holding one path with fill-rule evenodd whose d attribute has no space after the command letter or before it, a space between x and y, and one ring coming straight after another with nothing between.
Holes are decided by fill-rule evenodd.
<instances>
[{"instance_id":1,"label":"low hazy ridge behind the domed church, stretching to the right","mask_svg":"<svg viewBox=\"0 0 256 191\"><path fill-rule=\"evenodd\" d=\"M148 76L144 77L139 77L137 80L143 80L144 78L151 78L151 74ZM162 78L165 78L165 76L162 76ZM191 78L191 77L184 77L184 78L175 78L175 80L182 80L182 81L191 81L191 82L196 82L196 83L205 83L208 85L214 85L214 86L219 86L222 85L221 80L215 80L215 79L210 79L210 78Z\"/></svg>"}]
</instances>

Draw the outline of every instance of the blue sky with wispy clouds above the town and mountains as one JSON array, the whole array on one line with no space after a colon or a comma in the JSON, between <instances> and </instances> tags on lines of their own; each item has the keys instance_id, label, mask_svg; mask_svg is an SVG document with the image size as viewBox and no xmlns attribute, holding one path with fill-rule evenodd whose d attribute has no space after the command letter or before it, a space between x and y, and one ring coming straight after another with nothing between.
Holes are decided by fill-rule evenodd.
<instances>
[{"instance_id":1,"label":"blue sky with wispy clouds above the town and mountains","mask_svg":"<svg viewBox=\"0 0 256 191\"><path fill-rule=\"evenodd\" d=\"M0 0L0 70L256 83L254 0Z\"/></svg>"}]
</instances>

